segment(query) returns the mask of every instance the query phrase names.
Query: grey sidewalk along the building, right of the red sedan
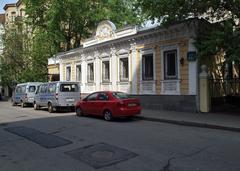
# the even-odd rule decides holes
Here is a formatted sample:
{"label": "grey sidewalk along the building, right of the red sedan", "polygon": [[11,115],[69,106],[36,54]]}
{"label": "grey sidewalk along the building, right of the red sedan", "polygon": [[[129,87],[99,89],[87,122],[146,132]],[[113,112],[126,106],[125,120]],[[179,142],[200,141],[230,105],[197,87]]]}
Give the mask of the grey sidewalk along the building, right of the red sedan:
{"label": "grey sidewalk along the building, right of the red sedan", "polygon": [[232,115],[227,113],[187,113],[143,109],[139,117],[149,121],[240,132],[240,113],[239,115]]}

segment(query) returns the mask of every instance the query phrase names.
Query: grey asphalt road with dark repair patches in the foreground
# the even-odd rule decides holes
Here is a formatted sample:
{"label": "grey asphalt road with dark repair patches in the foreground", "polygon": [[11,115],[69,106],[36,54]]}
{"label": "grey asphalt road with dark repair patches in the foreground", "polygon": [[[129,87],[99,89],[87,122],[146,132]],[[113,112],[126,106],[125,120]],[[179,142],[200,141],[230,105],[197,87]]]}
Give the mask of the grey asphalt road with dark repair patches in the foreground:
{"label": "grey asphalt road with dark repair patches in the foreground", "polygon": [[237,171],[240,134],[0,102],[0,171]]}

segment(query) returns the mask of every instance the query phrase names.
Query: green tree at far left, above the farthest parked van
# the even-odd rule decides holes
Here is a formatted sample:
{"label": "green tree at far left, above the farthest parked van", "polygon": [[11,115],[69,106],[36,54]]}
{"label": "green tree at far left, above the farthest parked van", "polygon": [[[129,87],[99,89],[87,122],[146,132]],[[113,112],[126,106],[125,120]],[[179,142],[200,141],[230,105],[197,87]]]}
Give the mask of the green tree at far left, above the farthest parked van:
{"label": "green tree at far left, above the farthest parked van", "polygon": [[28,34],[23,30],[21,18],[16,18],[11,23],[11,27],[6,28],[0,70],[4,86],[11,87],[15,81],[25,81],[24,71],[31,65],[27,37]]}

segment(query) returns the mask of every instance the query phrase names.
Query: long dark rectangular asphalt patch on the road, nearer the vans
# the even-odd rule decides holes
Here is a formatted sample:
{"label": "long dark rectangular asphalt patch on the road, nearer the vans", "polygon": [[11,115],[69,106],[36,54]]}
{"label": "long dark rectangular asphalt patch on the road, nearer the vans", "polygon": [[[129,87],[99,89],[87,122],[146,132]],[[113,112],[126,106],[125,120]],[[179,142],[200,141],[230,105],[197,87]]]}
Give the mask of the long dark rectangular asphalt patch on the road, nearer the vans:
{"label": "long dark rectangular asphalt patch on the road, nearer the vans", "polygon": [[5,128],[5,130],[13,134],[16,134],[18,136],[24,137],[45,148],[55,148],[55,147],[64,146],[72,143],[71,141],[66,140],[64,138],[61,138],[55,135],[46,134],[44,132],[40,132],[38,130],[24,127],[24,126]]}

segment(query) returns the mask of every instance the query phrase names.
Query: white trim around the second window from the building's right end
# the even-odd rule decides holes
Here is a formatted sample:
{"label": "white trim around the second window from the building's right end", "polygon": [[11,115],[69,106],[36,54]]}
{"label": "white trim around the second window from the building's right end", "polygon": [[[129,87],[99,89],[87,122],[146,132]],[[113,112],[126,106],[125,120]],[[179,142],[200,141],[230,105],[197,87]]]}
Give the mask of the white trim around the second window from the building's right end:
{"label": "white trim around the second window from the building's right end", "polygon": [[[148,55],[148,54],[153,54],[153,80],[143,80],[143,78],[142,78],[142,69],[143,69],[143,66],[142,66],[142,59],[143,59],[143,55]],[[155,52],[155,50],[154,49],[146,49],[146,50],[141,50],[140,51],[140,61],[141,61],[141,63],[140,63],[140,80],[141,81],[149,81],[149,82],[152,82],[152,81],[155,81],[156,80],[156,64],[155,64],[155,61],[156,61],[156,52]]]}

